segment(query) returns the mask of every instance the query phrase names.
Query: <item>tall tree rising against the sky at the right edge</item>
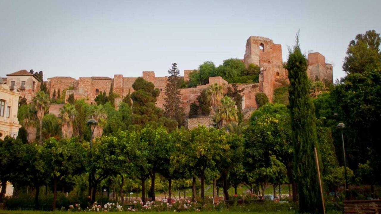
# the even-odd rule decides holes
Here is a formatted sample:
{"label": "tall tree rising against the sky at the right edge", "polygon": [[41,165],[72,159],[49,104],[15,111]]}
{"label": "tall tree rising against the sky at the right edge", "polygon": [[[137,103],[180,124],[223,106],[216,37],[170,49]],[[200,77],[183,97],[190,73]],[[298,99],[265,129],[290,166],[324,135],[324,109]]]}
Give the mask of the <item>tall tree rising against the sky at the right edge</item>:
{"label": "tall tree rising against the sky at the right edge", "polygon": [[368,65],[375,65],[381,60],[379,45],[380,34],[368,30],[365,34],[357,34],[349,43],[347,56],[344,57],[343,70],[347,73],[362,73]]}

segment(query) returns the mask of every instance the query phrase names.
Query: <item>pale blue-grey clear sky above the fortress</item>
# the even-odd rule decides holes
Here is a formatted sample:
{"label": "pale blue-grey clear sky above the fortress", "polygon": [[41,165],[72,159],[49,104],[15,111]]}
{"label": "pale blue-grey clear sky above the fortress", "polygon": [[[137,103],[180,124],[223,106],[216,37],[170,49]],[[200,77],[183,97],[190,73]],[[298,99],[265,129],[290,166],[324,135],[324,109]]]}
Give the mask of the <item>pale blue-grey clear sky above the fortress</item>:
{"label": "pale blue-grey clear sky above the fortress", "polygon": [[319,52],[343,77],[355,35],[381,32],[380,0],[0,0],[0,76],[42,70],[54,76],[181,74],[205,61],[243,59],[246,40],[263,36]]}

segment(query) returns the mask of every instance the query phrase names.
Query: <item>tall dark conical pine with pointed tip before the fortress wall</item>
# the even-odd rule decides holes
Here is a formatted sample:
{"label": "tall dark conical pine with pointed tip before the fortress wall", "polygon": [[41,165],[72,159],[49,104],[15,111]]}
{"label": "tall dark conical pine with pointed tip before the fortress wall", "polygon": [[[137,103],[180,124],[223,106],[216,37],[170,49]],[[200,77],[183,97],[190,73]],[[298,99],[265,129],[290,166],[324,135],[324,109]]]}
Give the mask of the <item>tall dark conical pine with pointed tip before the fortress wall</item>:
{"label": "tall dark conical pine with pointed tip before the fortress wall", "polygon": [[172,64],[172,68],[168,70],[169,77],[165,86],[165,116],[174,119],[178,122],[179,126],[185,126],[185,112],[184,107],[181,107],[181,94],[180,94],[180,70],[176,63]]}

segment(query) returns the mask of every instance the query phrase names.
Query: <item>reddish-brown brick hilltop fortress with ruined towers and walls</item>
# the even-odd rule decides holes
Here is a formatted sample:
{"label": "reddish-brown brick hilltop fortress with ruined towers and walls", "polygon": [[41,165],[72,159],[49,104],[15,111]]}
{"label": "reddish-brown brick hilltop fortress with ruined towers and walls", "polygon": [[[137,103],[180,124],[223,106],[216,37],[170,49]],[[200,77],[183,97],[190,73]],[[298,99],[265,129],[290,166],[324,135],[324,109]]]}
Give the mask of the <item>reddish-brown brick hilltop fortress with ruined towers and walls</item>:
{"label": "reddish-brown brick hilltop fortress with ruined towers and walls", "polygon": [[[242,60],[246,66],[250,63],[259,65],[261,73],[259,75],[259,83],[239,84],[239,89],[244,89],[242,92],[243,102],[242,109],[255,109],[257,104],[255,102],[255,95],[258,92],[264,92],[269,100],[272,101],[274,89],[281,86],[282,83],[287,82],[287,70],[283,68],[282,58],[282,45],[275,44],[271,39],[265,37],[251,36],[246,42],[246,51]],[[194,70],[184,70],[184,80],[189,80],[189,74]],[[308,76],[315,80],[326,79],[330,82],[333,81],[332,65],[325,63],[325,57],[318,53],[308,54]],[[156,88],[163,92],[166,86],[167,77],[156,77],[153,71],[143,71],[142,77],[152,82]],[[94,99],[98,96],[99,92],[109,92],[112,85],[114,92],[120,95],[115,103],[122,100],[128,92],[134,91],[132,84],[136,77],[123,77],[122,74],[115,74],[113,78],[110,77],[80,77],[78,80],[72,77],[51,77],[48,78],[47,87],[52,96],[54,89],[74,88],[66,91],[66,96],[74,93],[75,99],[85,99],[86,102],[94,103]],[[35,91],[39,89],[38,80],[33,74],[29,72],[14,72],[3,78],[3,81],[10,85],[11,88],[18,88],[21,96],[26,96],[28,102],[31,101]],[[196,88],[182,88],[182,105],[185,107],[186,114],[189,111],[189,106],[192,102],[197,102],[197,96],[201,91],[207,88],[210,84],[218,83],[221,85],[228,84],[226,80],[221,77],[210,77],[207,85],[199,85]],[[157,99],[157,106],[163,108],[164,93],[160,93]]]}

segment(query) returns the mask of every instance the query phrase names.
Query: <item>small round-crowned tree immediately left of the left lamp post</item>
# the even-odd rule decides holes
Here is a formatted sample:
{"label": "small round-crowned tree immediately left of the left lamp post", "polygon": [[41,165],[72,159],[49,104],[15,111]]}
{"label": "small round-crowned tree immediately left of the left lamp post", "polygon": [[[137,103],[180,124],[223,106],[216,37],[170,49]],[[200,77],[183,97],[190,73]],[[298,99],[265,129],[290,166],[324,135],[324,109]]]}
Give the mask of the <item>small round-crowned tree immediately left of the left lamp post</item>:
{"label": "small round-crowned tree immediately left of the left lamp post", "polygon": [[46,166],[53,180],[53,211],[56,209],[57,183],[69,176],[80,174],[85,166],[85,149],[77,139],[57,141],[50,138],[43,146]]}

